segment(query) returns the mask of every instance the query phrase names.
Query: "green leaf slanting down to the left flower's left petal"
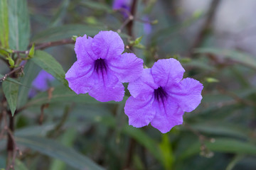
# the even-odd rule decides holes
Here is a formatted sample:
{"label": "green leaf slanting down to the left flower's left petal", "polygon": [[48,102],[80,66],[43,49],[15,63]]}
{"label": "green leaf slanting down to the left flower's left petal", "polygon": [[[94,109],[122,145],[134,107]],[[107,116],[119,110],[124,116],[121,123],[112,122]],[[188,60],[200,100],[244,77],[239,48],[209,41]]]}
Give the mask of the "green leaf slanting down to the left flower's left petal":
{"label": "green leaf slanting down to the left flower's left petal", "polygon": [[68,81],[65,79],[63,67],[50,54],[41,50],[36,50],[36,53],[31,60],[39,67],[46,70],[46,72],[52,74],[53,77],[58,79],[65,86],[68,86]]}

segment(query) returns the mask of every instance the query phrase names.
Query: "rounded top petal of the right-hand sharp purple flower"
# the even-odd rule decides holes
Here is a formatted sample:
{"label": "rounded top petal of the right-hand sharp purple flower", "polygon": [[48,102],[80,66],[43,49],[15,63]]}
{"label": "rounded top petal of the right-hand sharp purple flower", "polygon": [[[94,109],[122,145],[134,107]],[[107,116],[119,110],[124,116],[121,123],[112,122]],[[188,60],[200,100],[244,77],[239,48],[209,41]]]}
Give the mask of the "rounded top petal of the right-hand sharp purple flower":
{"label": "rounded top petal of the right-hand sharp purple flower", "polygon": [[173,58],[158,60],[151,68],[154,81],[159,86],[178,83],[183,78],[184,72],[185,69],[183,69],[181,63]]}

